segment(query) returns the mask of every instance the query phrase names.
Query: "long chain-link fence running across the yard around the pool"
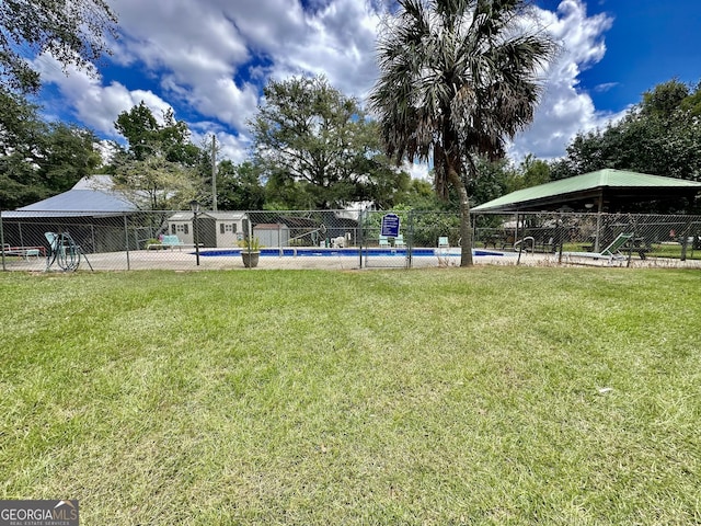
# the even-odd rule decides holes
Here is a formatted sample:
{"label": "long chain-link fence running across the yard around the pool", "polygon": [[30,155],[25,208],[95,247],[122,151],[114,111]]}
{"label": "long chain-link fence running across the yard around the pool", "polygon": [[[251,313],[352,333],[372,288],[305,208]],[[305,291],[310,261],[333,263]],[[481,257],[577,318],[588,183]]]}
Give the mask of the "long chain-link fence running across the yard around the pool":
{"label": "long chain-link fence running across the yard around the pool", "polygon": [[[458,214],[391,214],[387,236],[388,213],[368,210],[3,211],[0,255],[5,271],[233,270],[248,252],[261,268],[460,264]],[[478,264],[701,263],[701,216],[475,214],[472,236]]]}

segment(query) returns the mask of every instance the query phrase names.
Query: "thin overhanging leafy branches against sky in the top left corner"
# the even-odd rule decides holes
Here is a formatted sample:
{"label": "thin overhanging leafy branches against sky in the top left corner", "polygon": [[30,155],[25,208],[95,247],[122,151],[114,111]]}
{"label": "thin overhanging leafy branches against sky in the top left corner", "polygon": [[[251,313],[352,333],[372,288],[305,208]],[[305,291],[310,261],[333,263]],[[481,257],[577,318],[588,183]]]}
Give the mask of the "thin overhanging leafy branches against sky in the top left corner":
{"label": "thin overhanging leafy branches against sky in the top left corner", "polygon": [[64,66],[84,67],[116,37],[117,18],[105,0],[7,0],[0,2],[0,85],[37,91],[39,73],[31,57],[49,53]]}

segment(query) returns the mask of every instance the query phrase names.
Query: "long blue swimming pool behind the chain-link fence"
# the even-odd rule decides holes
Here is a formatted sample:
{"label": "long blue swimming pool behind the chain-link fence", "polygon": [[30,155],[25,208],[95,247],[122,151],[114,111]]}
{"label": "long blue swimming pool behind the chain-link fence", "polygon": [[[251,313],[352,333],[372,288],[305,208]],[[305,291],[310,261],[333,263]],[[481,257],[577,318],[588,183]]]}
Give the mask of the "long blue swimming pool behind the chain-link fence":
{"label": "long blue swimming pool behind the chain-link fence", "polygon": [[[366,248],[363,249],[363,256],[376,256],[376,258],[392,258],[400,256],[406,258],[407,249],[375,249],[375,248]],[[194,253],[194,252],[193,252]],[[241,249],[215,249],[215,250],[200,250],[199,255],[202,258],[208,256],[231,256],[231,255],[240,255]],[[460,249],[453,248],[446,250],[439,249],[412,249],[411,251],[412,258],[426,258],[426,256],[460,256]],[[503,252],[494,252],[490,250],[472,250],[472,255],[474,256],[502,256]],[[290,248],[285,247],[281,249],[261,249],[261,256],[275,256],[275,258],[359,258],[360,249],[358,248],[348,248],[348,249],[325,249],[325,248],[317,248],[317,247],[297,247]]]}

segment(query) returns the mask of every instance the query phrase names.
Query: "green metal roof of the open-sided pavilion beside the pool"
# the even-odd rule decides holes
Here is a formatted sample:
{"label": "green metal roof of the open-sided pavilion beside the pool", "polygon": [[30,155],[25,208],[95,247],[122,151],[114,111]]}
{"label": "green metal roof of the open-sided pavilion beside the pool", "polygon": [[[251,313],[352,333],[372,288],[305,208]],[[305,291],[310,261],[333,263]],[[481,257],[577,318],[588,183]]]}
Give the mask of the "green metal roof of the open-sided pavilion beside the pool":
{"label": "green metal roof of the open-sided pavilion beside the pool", "polygon": [[540,211],[563,206],[620,211],[630,203],[693,197],[701,183],[625,170],[605,169],[518,190],[472,208],[473,211]]}

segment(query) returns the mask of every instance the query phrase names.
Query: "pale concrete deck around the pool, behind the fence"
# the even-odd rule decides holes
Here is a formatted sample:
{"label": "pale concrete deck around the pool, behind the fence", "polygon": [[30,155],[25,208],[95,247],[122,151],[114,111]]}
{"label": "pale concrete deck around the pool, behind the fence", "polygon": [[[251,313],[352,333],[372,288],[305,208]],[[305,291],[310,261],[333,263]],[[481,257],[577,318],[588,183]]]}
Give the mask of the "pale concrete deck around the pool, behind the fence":
{"label": "pale concrete deck around the pool, behind the fence", "polygon": [[[203,251],[205,252],[205,251]],[[520,259],[518,253],[489,251],[498,255],[478,255],[474,258],[476,265],[527,265],[527,266],[630,266],[634,268],[701,268],[701,260],[680,261],[668,258],[647,258],[641,260],[632,258],[630,265],[628,260],[577,259],[564,256],[559,263],[559,254],[532,254],[522,253]],[[88,260],[95,271],[140,271],[140,270],[172,270],[172,271],[206,271],[206,270],[246,270],[243,266],[241,256],[235,255],[202,255],[199,266],[196,265],[195,253],[186,251],[153,251],[139,250],[130,252],[107,252],[100,254],[88,254]],[[418,255],[412,259],[412,268],[447,267],[459,266],[460,255],[455,249],[448,255]],[[277,256],[262,255],[258,266],[255,270],[336,270],[350,271],[359,268],[405,268],[406,259],[402,255],[382,255],[370,252],[368,258],[364,258],[360,264],[359,256],[356,255],[298,255]],[[5,259],[5,270],[41,272],[46,268],[45,259]],[[51,271],[58,270],[56,266]],[[89,271],[90,266],[82,261],[80,271]]]}

